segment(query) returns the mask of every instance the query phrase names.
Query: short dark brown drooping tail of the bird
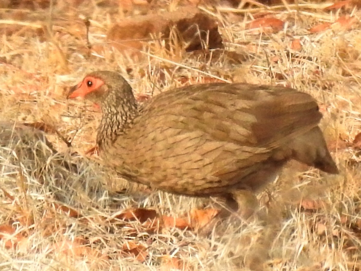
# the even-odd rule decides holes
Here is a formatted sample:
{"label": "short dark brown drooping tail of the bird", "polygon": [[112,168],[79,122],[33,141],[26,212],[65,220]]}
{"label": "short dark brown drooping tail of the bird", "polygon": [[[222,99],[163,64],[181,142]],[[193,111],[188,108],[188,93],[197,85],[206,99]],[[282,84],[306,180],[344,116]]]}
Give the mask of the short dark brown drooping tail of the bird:
{"label": "short dark brown drooping tail of the bird", "polygon": [[289,147],[292,150],[293,159],[327,173],[339,173],[337,165],[327,149],[323,133],[318,126],[293,139]]}

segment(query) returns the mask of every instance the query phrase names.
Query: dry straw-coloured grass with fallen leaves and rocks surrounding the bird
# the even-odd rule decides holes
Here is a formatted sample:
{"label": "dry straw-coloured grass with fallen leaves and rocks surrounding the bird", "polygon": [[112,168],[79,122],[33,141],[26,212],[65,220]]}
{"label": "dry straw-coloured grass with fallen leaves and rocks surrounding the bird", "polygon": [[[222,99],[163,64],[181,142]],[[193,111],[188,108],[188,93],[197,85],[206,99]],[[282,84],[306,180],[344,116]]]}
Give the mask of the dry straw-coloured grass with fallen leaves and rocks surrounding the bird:
{"label": "dry straw-coloured grass with fallen leaves and rocks surrounding the bird", "polygon": [[[357,0],[1,1],[0,270],[361,270],[360,16]],[[310,93],[341,174],[291,163],[255,215],[202,235],[214,200],[101,165],[99,109],[65,98],[100,69],[140,101],[219,80]]]}

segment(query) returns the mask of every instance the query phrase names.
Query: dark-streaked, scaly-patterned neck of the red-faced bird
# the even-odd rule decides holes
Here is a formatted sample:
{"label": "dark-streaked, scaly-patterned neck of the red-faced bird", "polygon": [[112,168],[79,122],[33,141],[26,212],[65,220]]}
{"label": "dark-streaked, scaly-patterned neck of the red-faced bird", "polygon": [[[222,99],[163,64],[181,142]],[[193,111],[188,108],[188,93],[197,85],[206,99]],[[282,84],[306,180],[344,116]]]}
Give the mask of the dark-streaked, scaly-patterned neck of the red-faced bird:
{"label": "dark-streaked, scaly-patterned neck of the red-faced bird", "polygon": [[134,118],[139,114],[138,107],[131,89],[126,97],[118,97],[116,91],[109,92],[101,103],[103,117],[96,138],[100,148],[113,143],[118,136],[127,133]]}

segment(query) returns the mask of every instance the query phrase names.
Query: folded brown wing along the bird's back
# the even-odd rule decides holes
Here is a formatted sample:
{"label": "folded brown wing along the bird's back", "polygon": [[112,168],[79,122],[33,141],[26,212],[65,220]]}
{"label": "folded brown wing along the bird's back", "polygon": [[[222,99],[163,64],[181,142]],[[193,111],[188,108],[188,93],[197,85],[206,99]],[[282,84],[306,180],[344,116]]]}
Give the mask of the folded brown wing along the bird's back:
{"label": "folded brown wing along the bird's back", "polygon": [[[187,95],[185,95],[187,94]],[[202,84],[167,91],[144,107],[146,125],[200,131],[215,141],[274,148],[317,126],[309,94],[285,87]]]}

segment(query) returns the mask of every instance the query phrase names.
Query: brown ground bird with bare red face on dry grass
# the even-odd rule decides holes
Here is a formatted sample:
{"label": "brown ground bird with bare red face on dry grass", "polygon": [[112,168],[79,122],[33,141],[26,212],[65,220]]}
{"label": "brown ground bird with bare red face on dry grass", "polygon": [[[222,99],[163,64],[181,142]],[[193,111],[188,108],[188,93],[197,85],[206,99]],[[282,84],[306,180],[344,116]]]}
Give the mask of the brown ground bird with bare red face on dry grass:
{"label": "brown ground bird with bare red face on dry grass", "polygon": [[297,160],[338,174],[309,94],[284,86],[212,82],[164,91],[139,104],[116,71],[95,71],[70,88],[98,104],[97,146],[128,181],[191,197],[257,192]]}

